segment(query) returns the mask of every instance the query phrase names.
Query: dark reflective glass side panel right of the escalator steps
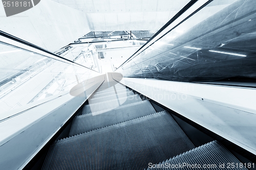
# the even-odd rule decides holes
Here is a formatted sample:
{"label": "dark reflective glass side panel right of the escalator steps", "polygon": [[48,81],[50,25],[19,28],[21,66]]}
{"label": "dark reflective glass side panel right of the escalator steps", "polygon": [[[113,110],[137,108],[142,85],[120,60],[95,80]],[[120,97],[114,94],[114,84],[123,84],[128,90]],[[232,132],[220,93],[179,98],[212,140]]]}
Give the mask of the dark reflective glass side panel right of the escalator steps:
{"label": "dark reflective glass side panel right of the escalator steps", "polygon": [[255,82],[255,6],[253,0],[212,1],[117,71],[182,82]]}

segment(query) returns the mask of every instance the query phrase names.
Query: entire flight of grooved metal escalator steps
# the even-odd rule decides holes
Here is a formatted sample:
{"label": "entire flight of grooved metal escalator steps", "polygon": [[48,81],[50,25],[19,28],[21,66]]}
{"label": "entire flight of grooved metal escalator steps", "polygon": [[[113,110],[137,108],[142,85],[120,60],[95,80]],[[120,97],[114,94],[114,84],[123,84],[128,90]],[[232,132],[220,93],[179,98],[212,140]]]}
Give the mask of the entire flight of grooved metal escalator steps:
{"label": "entire flight of grooved metal escalator steps", "polygon": [[[51,145],[42,170],[172,169],[179,164],[184,166],[176,169],[195,164],[227,169],[220,163],[241,163],[218,141],[195,147],[167,111],[157,112],[148,100],[109,79],[73,119],[69,137]],[[232,169],[246,169],[241,166]]]}

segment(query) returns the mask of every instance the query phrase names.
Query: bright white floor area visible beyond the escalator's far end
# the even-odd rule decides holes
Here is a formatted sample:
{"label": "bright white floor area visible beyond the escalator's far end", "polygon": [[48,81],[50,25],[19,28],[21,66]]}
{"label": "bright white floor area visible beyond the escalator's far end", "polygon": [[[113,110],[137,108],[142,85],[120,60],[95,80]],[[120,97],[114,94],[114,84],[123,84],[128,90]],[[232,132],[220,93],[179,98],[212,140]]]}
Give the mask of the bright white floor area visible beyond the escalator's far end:
{"label": "bright white floor area visible beyond the escalator's far end", "polygon": [[[99,39],[100,42],[97,42]],[[106,71],[104,69],[105,67],[111,68],[113,65],[119,67],[141,45],[146,43],[146,40],[142,39],[87,38],[86,40],[90,40],[91,42],[83,42],[83,39],[81,39],[81,42],[72,43],[68,47],[56,52],[56,54],[95,71],[102,72],[103,70],[102,73],[104,73]],[[127,48],[130,49],[129,53],[127,53]],[[120,51],[120,53],[112,53],[113,51]],[[118,60],[118,64],[115,61],[113,63],[111,63],[112,61],[104,63],[104,61],[110,59]],[[115,69],[107,70],[112,72]]]}

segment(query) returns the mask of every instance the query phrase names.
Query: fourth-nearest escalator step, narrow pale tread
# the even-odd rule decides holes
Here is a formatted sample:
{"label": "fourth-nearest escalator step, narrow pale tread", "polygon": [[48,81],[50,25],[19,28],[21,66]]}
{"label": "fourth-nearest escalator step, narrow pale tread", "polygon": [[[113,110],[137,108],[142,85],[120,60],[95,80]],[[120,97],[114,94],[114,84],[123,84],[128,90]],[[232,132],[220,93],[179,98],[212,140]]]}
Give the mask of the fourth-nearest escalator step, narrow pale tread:
{"label": "fourth-nearest escalator step, narrow pale tread", "polygon": [[98,102],[83,107],[82,114],[87,114],[91,112],[96,112],[100,110],[105,110],[109,108],[116,108],[121,105],[126,105],[130,103],[140,102],[141,98],[138,94],[125,96],[123,98],[116,98],[104,102]]}

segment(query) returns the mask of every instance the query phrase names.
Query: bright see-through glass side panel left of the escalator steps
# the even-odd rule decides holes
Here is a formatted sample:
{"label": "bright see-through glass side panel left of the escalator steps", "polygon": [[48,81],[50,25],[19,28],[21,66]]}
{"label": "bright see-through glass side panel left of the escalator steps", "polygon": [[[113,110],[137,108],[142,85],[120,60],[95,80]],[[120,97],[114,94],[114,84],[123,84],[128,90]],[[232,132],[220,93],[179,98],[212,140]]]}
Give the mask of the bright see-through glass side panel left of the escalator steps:
{"label": "bright see-through glass side panel left of the escalator steps", "polygon": [[[99,72],[0,43],[0,114],[70,93]],[[84,89],[86,90],[86,89]],[[85,98],[87,96],[85,95]]]}

